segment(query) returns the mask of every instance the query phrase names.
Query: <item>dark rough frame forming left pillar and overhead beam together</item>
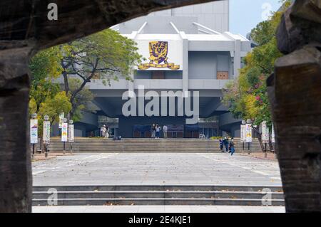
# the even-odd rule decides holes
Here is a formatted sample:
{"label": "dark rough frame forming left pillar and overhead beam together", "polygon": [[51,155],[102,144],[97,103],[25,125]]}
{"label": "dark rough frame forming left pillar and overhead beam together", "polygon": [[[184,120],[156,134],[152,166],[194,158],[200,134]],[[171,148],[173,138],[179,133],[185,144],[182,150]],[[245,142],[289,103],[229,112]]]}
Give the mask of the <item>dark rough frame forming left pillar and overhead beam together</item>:
{"label": "dark rough frame forming left pillar and overhead beam together", "polygon": [[[29,58],[151,11],[209,0],[0,1],[0,212],[31,211]],[[58,20],[48,20],[48,4]]]}

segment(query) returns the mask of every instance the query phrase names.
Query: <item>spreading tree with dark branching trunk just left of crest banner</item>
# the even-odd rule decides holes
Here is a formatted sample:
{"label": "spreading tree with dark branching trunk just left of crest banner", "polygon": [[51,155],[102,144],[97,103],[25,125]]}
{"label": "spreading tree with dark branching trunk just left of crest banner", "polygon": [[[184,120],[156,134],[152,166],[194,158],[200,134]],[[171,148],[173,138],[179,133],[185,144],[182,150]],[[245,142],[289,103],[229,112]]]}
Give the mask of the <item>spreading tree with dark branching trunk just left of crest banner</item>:
{"label": "spreading tree with dark branching trunk just left of crest banner", "polygon": [[[76,115],[76,119],[83,107],[77,104],[81,91],[91,79],[103,79],[104,84],[118,80],[118,76],[132,80],[133,67],[141,62],[136,43],[111,29],[62,45],[60,50],[64,90],[72,105],[70,117]],[[71,88],[69,80],[75,76],[80,83]]]}

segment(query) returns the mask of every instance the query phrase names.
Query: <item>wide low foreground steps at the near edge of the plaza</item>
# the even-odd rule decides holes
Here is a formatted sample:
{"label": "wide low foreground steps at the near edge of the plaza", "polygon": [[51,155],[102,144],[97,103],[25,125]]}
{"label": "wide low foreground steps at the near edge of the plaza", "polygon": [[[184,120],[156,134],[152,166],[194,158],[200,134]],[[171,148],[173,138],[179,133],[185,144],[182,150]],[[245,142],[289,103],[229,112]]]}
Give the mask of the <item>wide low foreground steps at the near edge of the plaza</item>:
{"label": "wide low foreground steps at the near edge of the plaza", "polygon": [[[49,189],[56,189],[56,197]],[[34,186],[33,206],[85,205],[233,205],[263,206],[269,188],[270,205],[284,206],[281,186],[105,185]],[[50,197],[49,197],[50,196]],[[50,199],[49,199],[50,198]]]}

